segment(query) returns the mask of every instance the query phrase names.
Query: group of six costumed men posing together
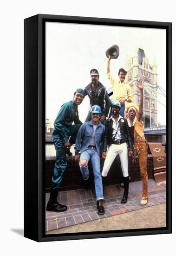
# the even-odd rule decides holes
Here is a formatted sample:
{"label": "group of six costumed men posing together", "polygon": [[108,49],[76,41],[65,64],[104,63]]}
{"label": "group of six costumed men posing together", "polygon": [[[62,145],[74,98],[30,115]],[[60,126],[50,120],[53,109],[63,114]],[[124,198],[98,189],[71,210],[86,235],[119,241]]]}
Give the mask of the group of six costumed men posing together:
{"label": "group of six costumed men posing together", "polygon": [[[74,92],[72,101],[66,102],[54,121],[53,141],[56,149],[56,163],[52,176],[50,199],[46,210],[61,212],[67,209],[66,205],[58,202],[58,190],[67,166],[66,155],[70,154],[70,147],[75,144],[75,161],[79,163],[84,180],[89,178],[88,162],[94,174],[95,192],[97,197],[98,214],[104,214],[104,185],[111,164],[119,155],[123,179],[124,195],[121,203],[126,203],[129,192],[128,157],[138,156],[142,177],[142,200],[148,202],[148,175],[147,175],[147,143],[143,134],[143,81],[140,80],[139,107],[132,102],[130,86],[125,84],[127,72],[120,68],[119,81],[114,80],[110,73],[111,57],[107,59],[107,76],[113,87],[112,101],[106,88],[99,81],[97,69],[91,69],[91,83],[85,89],[78,88]],[[90,99],[89,111],[85,123],[79,120],[78,105],[84,97]],[[125,101],[129,102],[126,104]],[[111,109],[110,109],[111,108]],[[109,110],[111,115],[108,119]],[[75,124],[72,125],[72,122]],[[108,151],[107,151],[108,148]],[[100,157],[105,159],[102,172],[100,171]]]}

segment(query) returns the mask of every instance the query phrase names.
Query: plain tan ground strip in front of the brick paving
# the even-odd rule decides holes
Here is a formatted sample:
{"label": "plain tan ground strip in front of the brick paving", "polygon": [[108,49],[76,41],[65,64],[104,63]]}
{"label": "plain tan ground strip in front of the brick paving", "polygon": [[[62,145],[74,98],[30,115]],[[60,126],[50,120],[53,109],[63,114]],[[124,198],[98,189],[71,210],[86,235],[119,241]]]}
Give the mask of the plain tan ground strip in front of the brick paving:
{"label": "plain tan ground strip in front of the brick paving", "polygon": [[153,229],[163,227],[166,227],[166,203],[106,217],[101,220],[98,219],[70,227],[54,229],[46,232],[46,234],[68,234],[125,229]]}

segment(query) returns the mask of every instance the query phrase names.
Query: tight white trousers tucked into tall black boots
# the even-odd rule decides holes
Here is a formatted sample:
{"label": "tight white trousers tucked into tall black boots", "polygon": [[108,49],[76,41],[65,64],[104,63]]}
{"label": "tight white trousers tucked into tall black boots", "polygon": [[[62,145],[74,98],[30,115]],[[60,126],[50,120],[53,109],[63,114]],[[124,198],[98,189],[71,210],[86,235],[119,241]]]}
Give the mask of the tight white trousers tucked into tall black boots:
{"label": "tight white trousers tucked into tall black boots", "polygon": [[120,145],[111,144],[108,149],[106,159],[104,161],[104,167],[102,171],[102,176],[106,177],[108,175],[111,164],[114,161],[115,157],[119,155],[123,176],[127,177],[128,175],[128,148],[127,143],[124,142]]}

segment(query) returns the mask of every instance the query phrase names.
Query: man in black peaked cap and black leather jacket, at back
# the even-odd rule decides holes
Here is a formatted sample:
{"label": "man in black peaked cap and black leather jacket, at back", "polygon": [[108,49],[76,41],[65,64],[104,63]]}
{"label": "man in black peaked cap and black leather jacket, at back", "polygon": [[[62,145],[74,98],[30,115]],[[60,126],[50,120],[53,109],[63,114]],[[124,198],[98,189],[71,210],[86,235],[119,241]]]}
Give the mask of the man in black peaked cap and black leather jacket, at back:
{"label": "man in black peaked cap and black leather jacket, at back", "polygon": [[[91,83],[88,84],[84,89],[85,96],[88,95],[90,99],[90,107],[94,105],[100,106],[102,109],[102,116],[100,121],[103,122],[106,116],[108,116],[109,109],[111,107],[111,100],[106,91],[104,85],[99,82],[98,70],[93,68],[91,69]],[[91,121],[91,113],[89,112],[85,122]]]}

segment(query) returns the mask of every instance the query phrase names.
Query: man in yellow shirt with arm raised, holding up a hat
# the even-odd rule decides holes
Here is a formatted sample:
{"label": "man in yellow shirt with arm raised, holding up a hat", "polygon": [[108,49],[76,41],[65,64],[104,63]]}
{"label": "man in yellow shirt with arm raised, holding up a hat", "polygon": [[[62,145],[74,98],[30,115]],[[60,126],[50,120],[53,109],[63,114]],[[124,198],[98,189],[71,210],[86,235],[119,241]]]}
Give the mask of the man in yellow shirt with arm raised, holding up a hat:
{"label": "man in yellow shirt with arm raised, holding up a hat", "polygon": [[125,101],[132,102],[131,88],[124,82],[127,72],[123,68],[120,68],[118,71],[119,81],[116,81],[112,77],[110,73],[110,61],[111,57],[109,55],[109,58],[107,59],[107,76],[110,79],[113,88],[112,101],[120,101],[121,109],[119,114],[124,117]]}

